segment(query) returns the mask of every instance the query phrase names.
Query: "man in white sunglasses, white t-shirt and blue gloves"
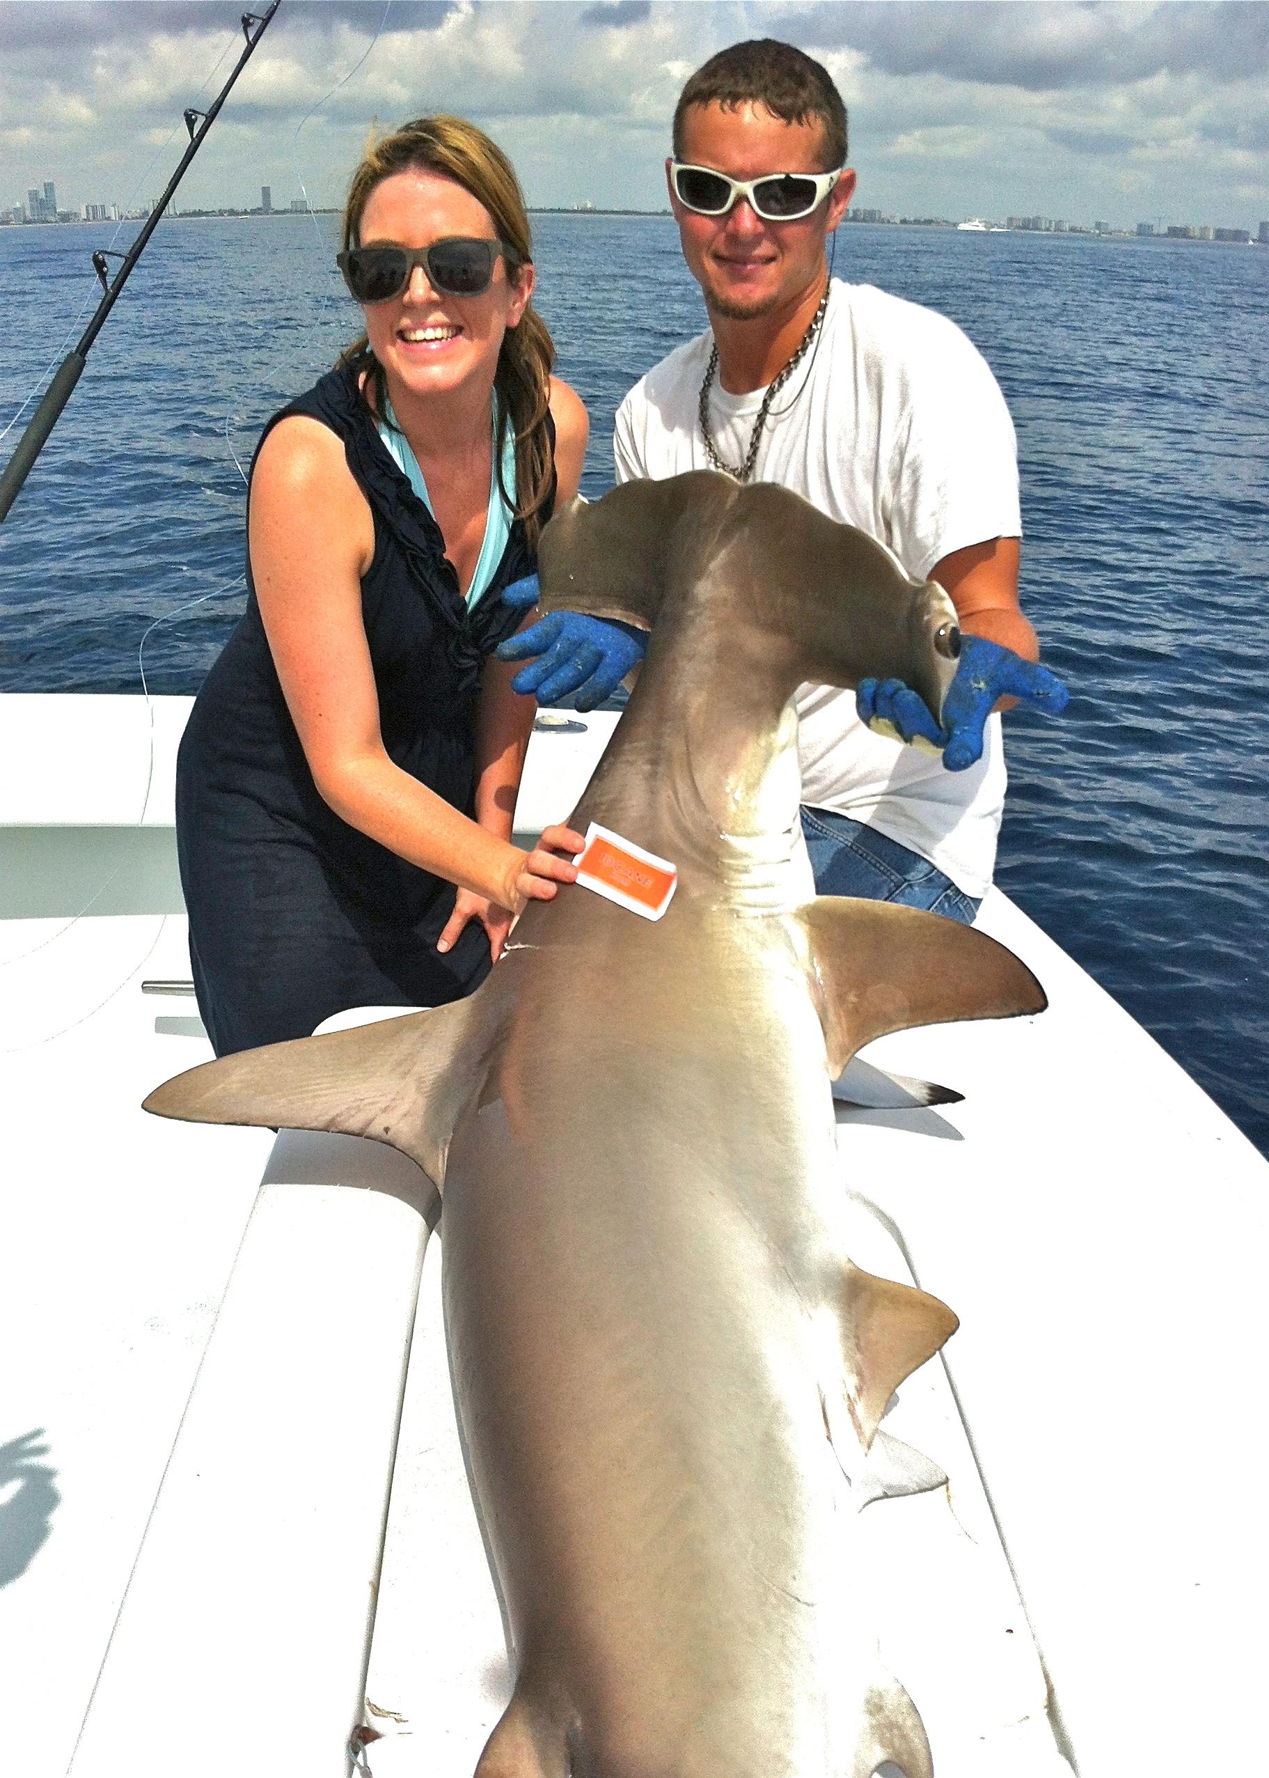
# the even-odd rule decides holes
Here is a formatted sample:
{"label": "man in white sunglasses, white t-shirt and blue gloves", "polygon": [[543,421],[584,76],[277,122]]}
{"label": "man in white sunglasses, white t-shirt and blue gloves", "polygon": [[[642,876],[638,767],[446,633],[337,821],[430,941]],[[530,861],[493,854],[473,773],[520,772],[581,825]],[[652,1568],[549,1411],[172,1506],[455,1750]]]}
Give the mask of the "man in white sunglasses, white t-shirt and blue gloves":
{"label": "man in white sunglasses, white t-shirt and blue gloves", "polygon": [[[970,921],[992,880],[1004,800],[992,711],[1013,702],[1010,693],[1065,704],[1059,683],[1034,665],[1036,635],[1018,606],[1018,473],[1004,398],[953,322],[830,281],[826,244],[855,174],[846,108],[819,62],[771,39],[714,55],[679,98],[666,178],[711,331],[622,402],[619,480],[714,468],[780,482],[947,589],[963,653],[944,731],[898,681],[862,685],[858,702],[802,686],[803,832],[821,894]],[[572,622],[595,624],[562,613],[505,644],[523,658],[556,638],[517,690],[558,697],[610,645],[610,674],[627,670],[636,644],[615,626],[583,633]],[[585,702],[617,683],[610,674],[599,667]]]}

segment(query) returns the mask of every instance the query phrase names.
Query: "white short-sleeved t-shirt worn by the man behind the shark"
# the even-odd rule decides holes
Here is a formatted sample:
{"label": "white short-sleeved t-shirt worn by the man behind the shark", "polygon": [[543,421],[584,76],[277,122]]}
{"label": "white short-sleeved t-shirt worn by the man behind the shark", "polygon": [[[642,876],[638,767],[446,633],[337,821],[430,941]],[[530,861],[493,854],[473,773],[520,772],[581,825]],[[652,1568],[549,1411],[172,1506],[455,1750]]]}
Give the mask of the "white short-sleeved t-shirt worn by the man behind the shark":
{"label": "white short-sleeved t-shirt worn by the man behind the shark", "polygon": [[[711,334],[647,373],[617,411],[617,480],[707,469],[700,384]],[[723,462],[748,452],[764,389],[709,398]],[[944,315],[871,284],[834,279],[823,329],[777,393],[754,480],[794,489],[828,517],[855,525],[924,580],[967,544],[1020,537],[1013,421],[986,361]],[[965,894],[992,882],[1004,805],[1001,718],[967,772],[873,734],[855,693],[798,690],[802,800],[867,821],[938,866]]]}

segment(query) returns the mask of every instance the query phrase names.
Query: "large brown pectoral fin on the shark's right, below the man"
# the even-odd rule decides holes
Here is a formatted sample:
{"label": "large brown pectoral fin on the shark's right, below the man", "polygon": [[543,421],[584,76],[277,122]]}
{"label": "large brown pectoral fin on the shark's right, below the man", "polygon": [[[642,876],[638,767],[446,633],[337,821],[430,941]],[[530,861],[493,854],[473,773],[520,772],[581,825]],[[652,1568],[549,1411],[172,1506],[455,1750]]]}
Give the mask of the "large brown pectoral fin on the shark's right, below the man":
{"label": "large brown pectoral fin on the shark's right, below the man", "polygon": [[1043,1012],[1045,990],[995,939],[942,914],[818,896],[802,909],[828,1069],[887,1031]]}

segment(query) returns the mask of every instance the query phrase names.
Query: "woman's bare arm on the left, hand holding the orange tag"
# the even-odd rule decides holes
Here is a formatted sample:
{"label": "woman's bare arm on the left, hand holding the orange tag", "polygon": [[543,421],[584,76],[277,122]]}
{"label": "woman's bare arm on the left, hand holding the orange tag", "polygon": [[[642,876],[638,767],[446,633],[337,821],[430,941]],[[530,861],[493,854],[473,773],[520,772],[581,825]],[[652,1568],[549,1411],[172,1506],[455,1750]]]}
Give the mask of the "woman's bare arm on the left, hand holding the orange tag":
{"label": "woman's bare arm on the left, hand holding the orange tag", "polygon": [[569,861],[524,853],[387,757],[361,619],[373,519],[339,439],[318,421],[284,420],[261,446],[249,548],[286,708],[334,813],[411,864],[512,910],[572,882]]}

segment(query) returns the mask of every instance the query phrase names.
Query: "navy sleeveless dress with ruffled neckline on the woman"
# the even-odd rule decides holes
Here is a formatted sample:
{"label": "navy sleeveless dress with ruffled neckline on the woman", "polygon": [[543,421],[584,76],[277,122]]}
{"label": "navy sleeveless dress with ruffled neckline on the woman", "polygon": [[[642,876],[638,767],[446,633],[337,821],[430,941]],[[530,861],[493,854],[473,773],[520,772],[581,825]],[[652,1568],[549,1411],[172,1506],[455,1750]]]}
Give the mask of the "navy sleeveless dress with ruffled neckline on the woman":
{"label": "navy sleeveless dress with ruffled neckline on the woman", "polygon": [[[263,437],[291,414],[343,439],[373,512],[361,606],[384,747],[471,814],[482,665],[521,619],[499,592],[535,567],[524,526],[512,525],[489,590],[469,612],[441,528],[379,437],[355,372],[322,377]],[[277,681],[251,560],[247,610],[181,740],[176,843],[194,987],[219,1056],[307,1037],[347,1006],[439,1006],[489,973],[489,939],[476,923],[451,951],[435,949],[453,884],[348,827],[318,795]]]}

